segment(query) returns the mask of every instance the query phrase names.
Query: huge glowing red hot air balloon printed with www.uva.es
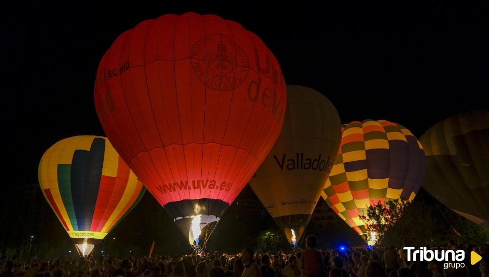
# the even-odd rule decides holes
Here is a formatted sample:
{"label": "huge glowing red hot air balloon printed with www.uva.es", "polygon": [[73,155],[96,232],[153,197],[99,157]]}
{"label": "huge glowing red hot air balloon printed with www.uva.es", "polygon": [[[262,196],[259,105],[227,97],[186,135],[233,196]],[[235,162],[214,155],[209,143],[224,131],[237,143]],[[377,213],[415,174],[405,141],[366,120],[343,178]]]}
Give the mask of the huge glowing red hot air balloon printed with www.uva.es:
{"label": "huge glowing red hot air balloon printed with www.uva.es", "polygon": [[187,13],[121,34],[100,61],[94,100],[114,148],[198,246],[278,137],[284,84],[256,35]]}

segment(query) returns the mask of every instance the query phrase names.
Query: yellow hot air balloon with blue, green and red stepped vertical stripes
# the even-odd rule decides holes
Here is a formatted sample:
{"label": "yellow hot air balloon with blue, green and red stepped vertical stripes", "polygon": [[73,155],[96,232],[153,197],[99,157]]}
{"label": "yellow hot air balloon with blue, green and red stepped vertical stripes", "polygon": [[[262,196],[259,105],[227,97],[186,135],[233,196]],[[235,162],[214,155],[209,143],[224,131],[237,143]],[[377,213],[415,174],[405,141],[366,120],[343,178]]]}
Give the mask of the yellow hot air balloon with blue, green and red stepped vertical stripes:
{"label": "yellow hot air balloon with blue, green and red stepped vertical stripes", "polygon": [[146,191],[103,136],[57,142],[42,156],[38,174],[44,197],[84,257]]}

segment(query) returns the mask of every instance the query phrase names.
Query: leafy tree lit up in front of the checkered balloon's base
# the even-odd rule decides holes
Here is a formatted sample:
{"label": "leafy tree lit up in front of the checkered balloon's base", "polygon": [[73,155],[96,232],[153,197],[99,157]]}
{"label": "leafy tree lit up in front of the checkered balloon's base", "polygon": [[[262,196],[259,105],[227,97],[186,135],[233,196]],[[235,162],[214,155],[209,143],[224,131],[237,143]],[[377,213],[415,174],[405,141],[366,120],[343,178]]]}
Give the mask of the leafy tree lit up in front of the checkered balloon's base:
{"label": "leafy tree lit up in front of the checkered balloon's base", "polygon": [[375,245],[382,243],[387,230],[401,217],[408,205],[409,202],[399,199],[387,201],[385,204],[379,201],[376,205],[369,206],[367,215],[359,216],[365,223],[368,241],[373,241]]}

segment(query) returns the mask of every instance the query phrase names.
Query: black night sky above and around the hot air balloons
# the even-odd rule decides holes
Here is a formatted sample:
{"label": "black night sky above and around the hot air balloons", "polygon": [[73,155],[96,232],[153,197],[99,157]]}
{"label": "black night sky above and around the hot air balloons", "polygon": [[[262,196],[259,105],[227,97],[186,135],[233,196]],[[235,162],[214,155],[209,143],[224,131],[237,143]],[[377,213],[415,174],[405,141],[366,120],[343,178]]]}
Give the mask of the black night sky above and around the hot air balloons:
{"label": "black night sky above and around the hot air balloons", "polygon": [[240,23],[275,54],[287,84],[323,93],[343,123],[386,119],[419,137],[450,115],[489,107],[489,2],[392,2],[4,1],[1,200],[38,182],[52,144],[104,135],[93,102],[100,58],[120,33],[168,13]]}

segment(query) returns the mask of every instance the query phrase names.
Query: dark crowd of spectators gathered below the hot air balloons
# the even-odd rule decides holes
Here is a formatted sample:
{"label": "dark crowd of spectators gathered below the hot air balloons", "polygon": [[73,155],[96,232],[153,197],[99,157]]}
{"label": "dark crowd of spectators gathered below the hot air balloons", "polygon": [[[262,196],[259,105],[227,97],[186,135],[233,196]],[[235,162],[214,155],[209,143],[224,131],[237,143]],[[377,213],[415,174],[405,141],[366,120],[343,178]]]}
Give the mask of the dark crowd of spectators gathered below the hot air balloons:
{"label": "dark crowd of spectators gathered below the hot air balloons", "polygon": [[[424,277],[489,276],[487,245],[446,249],[464,250],[464,267],[444,266],[442,261],[409,261],[402,247],[382,249],[317,250],[318,239],[308,236],[306,250],[285,254],[255,253],[244,248],[238,254],[214,252],[185,256],[153,256],[127,259],[65,259],[22,262],[2,261],[0,277]],[[482,260],[471,265],[470,251]]]}

